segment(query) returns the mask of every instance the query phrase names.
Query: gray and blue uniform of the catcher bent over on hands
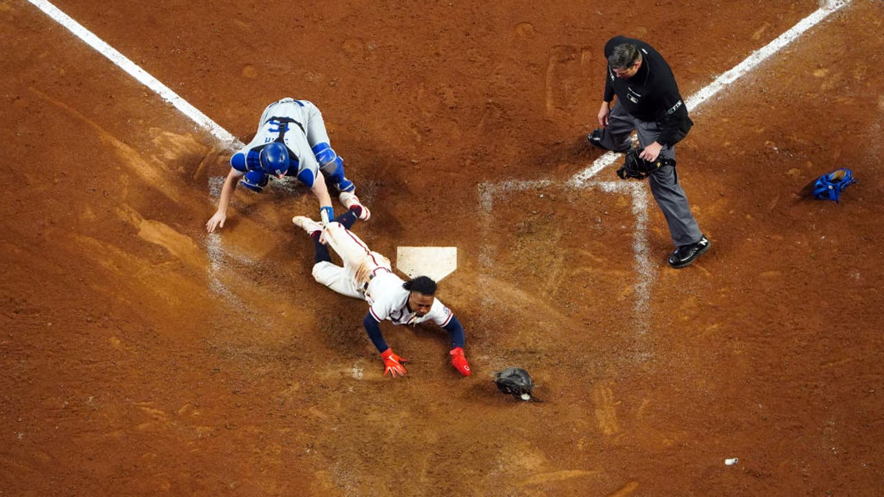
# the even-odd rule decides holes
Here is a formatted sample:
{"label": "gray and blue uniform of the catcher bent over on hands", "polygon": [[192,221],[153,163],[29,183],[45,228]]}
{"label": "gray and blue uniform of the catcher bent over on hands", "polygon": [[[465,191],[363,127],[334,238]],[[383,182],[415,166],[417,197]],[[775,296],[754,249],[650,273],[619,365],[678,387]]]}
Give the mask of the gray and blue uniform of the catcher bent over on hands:
{"label": "gray and blue uniform of the catcher bent over on hands", "polygon": [[[260,170],[261,150],[271,142],[282,142],[289,151],[286,176],[313,187],[320,171],[339,192],[352,192],[354,184],[344,176],[344,161],[329,145],[323,115],[306,100],[283,98],[264,109],[258,130],[248,145],[230,159],[233,169],[245,174]],[[266,178],[264,178],[266,180]]]}

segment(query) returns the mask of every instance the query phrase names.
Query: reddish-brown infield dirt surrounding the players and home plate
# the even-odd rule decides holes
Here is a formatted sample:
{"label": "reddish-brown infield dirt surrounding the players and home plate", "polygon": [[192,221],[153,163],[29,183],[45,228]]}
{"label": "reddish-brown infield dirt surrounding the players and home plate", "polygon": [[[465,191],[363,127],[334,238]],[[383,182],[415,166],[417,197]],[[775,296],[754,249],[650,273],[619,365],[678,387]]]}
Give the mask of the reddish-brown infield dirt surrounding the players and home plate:
{"label": "reddish-brown infield dirt surrounding the players and home plate", "polygon": [[[690,109],[713,246],[682,270],[647,185],[573,181],[604,43],[651,43],[689,97],[816,1],[54,4],[241,141],[316,103],[354,232],[457,248],[473,374],[385,323],[410,363],[384,377],[365,302],[311,277],[308,189],[239,188],[209,235],[230,144],[0,0],[0,495],[880,495],[884,3]],[[840,203],[798,195],[839,167]],[[508,366],[543,403],[497,392]]]}

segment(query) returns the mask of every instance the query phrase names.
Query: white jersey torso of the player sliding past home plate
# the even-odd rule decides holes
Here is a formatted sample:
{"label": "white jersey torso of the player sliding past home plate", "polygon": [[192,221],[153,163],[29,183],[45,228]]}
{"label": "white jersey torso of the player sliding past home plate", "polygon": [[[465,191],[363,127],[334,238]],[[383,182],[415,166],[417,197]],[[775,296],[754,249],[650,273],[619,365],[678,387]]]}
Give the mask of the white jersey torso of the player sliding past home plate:
{"label": "white jersey torso of the player sliding past home plate", "polygon": [[369,302],[371,316],[378,322],[389,319],[393,325],[418,325],[424,321],[432,321],[444,327],[451,321],[451,310],[436,298],[433,299],[430,312],[422,317],[409,310],[408,295],[411,292],[402,287],[403,283],[405,281],[392,272],[378,272],[369,282],[365,300]]}

